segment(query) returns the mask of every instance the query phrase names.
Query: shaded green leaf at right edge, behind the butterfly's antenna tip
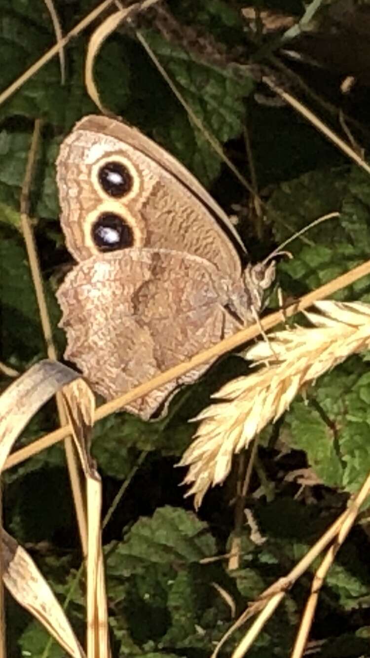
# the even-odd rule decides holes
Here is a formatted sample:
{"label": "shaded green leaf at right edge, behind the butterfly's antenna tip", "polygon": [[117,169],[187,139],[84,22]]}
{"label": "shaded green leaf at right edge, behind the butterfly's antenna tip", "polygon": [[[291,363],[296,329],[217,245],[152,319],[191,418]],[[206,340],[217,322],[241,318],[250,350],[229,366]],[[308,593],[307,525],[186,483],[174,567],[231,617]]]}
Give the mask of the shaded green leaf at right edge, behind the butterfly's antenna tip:
{"label": "shaded green leaf at right edge, behind the butterfly's antenna tip", "polygon": [[[313,220],[333,212],[288,245],[294,258],[279,265],[279,271],[294,280],[297,294],[329,282],[365,259],[370,244],[368,176],[357,167],[336,168],[304,174],[284,182],[271,196],[267,218],[277,240],[284,241]],[[307,244],[308,242],[308,244]],[[287,285],[286,278],[283,279]],[[369,277],[338,291],[335,299],[370,300]]]}

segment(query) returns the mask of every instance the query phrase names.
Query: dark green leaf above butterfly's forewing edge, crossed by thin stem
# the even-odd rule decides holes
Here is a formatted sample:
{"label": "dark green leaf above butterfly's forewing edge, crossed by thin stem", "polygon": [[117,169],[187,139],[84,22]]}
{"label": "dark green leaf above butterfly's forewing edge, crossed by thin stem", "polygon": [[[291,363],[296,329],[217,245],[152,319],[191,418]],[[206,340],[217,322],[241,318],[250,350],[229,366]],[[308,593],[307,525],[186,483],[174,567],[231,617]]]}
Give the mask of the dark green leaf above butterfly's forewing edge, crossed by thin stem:
{"label": "dark green leaf above butterfly's forewing edge, crossed by thin stem", "polygon": [[[197,61],[184,49],[165,41],[155,32],[145,32],[176,88],[206,131],[221,145],[242,133],[244,99],[253,90],[248,76],[237,76],[230,66]],[[173,100],[171,120],[157,122],[154,138],[169,148],[194,174],[209,184],[219,175],[221,160],[186,112]],[[166,116],[166,115],[165,115]]]}

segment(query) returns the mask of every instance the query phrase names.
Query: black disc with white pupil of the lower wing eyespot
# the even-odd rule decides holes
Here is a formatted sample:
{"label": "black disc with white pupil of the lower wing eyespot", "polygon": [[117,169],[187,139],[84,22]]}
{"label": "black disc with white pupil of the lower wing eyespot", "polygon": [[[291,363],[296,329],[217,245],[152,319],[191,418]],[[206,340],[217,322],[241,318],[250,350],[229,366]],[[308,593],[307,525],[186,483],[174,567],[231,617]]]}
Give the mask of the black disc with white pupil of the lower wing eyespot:
{"label": "black disc with white pupil of the lower wing eyespot", "polygon": [[92,226],[92,240],[99,251],[115,251],[134,245],[131,226],[115,213],[102,213]]}

